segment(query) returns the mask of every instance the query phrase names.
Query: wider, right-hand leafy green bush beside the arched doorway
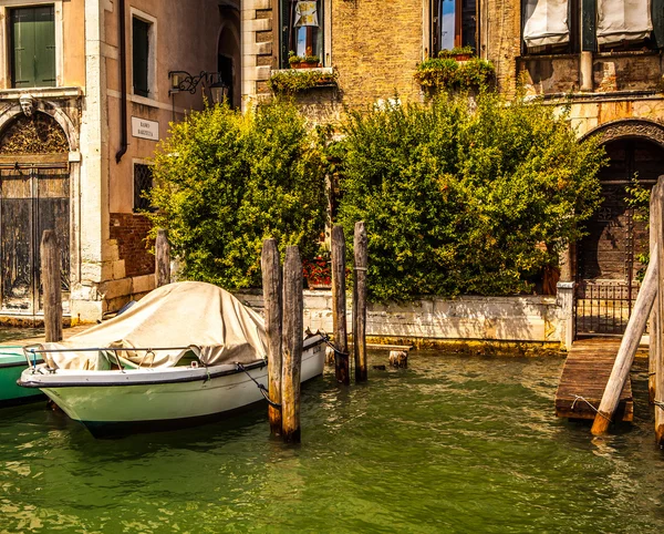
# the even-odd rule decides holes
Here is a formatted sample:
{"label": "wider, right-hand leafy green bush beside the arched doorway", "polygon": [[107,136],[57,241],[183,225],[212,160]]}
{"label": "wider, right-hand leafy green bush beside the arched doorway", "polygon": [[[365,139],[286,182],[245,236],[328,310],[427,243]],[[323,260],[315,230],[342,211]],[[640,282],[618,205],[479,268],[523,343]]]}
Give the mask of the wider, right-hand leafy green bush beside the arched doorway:
{"label": "wider, right-hand leafy green bush beside the arched doorway", "polygon": [[600,202],[598,141],[541,103],[444,96],[351,113],[344,133],[338,222],[349,240],[366,222],[374,300],[529,290]]}

